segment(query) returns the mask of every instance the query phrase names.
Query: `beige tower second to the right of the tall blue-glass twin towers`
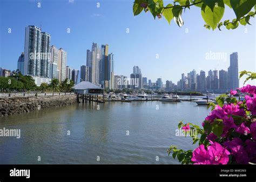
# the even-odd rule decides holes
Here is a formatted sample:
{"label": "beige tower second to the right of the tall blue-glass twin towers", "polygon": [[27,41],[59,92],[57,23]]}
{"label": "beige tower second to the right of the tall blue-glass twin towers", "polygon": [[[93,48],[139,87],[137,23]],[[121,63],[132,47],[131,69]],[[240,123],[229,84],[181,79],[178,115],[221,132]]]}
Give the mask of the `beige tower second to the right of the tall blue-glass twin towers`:
{"label": "beige tower second to the right of the tall blue-glass twin towers", "polygon": [[59,80],[63,81],[66,79],[66,55],[67,53],[64,49],[58,49],[58,70],[59,70]]}

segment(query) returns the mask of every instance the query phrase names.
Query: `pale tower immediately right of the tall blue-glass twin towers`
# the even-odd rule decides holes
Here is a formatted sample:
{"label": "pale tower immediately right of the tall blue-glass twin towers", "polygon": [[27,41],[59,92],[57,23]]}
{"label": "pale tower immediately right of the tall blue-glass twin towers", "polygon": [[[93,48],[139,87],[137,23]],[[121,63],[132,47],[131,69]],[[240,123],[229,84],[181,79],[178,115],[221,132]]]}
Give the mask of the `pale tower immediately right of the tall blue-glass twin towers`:
{"label": "pale tower immediately right of the tall blue-glass twin towers", "polygon": [[51,59],[50,59],[50,78],[58,78],[58,49],[52,45],[50,48]]}

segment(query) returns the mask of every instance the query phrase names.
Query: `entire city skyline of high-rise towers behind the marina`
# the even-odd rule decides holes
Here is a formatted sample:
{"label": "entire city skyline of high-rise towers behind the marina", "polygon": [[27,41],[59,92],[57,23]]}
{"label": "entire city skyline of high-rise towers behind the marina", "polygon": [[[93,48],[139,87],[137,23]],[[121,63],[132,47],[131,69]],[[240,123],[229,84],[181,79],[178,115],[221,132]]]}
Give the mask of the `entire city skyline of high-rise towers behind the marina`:
{"label": "entire city skyline of high-rise towers behind the marina", "polygon": [[[67,63],[67,52],[55,45],[51,45],[51,36],[42,32],[41,28],[29,25],[25,28],[24,52],[18,58],[17,69],[23,75],[32,76],[37,86],[41,83],[50,83],[56,78],[60,82],[68,78],[75,84],[87,81],[105,89],[148,89],[165,91],[199,91],[224,93],[239,87],[238,53],[230,55],[230,66],[227,70],[195,70],[181,74],[177,85],[171,80],[165,84],[161,78],[156,82],[142,76],[139,66],[133,66],[130,78],[123,75],[114,75],[114,54],[109,53],[109,45],[92,43],[91,50],[86,51],[86,65],[80,70],[71,69]],[[0,76],[8,77],[10,70],[0,68]]]}

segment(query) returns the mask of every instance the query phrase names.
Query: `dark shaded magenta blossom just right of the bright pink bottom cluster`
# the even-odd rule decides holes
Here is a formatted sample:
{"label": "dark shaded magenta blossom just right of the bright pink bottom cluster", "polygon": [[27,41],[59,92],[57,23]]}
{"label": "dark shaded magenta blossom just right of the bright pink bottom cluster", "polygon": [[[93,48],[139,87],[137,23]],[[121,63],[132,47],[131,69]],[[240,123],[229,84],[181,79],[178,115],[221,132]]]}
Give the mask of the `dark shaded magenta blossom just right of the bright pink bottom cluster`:
{"label": "dark shaded magenta blossom just right of the bright pink bottom cluster", "polygon": [[238,164],[248,164],[249,158],[242,146],[242,140],[240,138],[233,138],[232,141],[225,141],[223,145],[231,151],[231,154]]}

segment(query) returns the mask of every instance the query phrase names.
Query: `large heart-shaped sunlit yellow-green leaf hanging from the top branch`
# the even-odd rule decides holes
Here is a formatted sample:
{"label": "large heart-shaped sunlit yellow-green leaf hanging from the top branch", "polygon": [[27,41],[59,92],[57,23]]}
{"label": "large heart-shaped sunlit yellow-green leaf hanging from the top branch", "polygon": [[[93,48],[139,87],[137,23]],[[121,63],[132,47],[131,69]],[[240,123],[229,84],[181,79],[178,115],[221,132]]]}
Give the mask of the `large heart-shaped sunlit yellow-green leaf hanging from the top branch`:
{"label": "large heart-shaped sunlit yellow-green leaf hanging from the top branch", "polygon": [[201,8],[201,15],[205,21],[206,24],[210,25],[212,30],[217,28],[217,24],[220,22],[221,18],[224,15],[225,6],[223,3],[223,0],[218,1],[218,6],[214,6],[213,10],[207,6],[206,4],[203,4]]}

